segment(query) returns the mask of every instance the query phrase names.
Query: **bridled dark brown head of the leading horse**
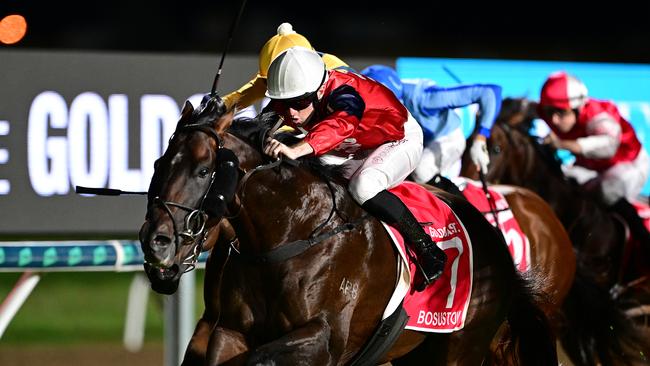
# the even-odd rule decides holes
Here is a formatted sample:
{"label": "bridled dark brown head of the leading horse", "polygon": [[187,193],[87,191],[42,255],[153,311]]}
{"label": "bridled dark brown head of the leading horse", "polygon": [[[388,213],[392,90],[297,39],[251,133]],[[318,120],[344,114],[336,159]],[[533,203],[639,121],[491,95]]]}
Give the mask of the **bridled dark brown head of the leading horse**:
{"label": "bridled dark brown head of the leading horse", "polygon": [[[233,119],[219,97],[185,103],[165,153],[154,164],[140,242],[152,288],[171,294],[195,267],[208,228],[223,217],[238,179],[237,157],[224,146]],[[219,180],[216,177],[219,176]]]}

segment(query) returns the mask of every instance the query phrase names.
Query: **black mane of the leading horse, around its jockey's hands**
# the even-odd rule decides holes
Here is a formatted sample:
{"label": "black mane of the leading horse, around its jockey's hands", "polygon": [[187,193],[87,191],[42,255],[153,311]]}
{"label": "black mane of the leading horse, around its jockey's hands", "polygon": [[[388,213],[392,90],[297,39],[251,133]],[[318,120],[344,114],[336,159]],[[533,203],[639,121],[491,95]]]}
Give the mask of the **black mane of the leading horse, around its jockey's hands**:
{"label": "black mane of the leading horse, around its jockey's hands", "polygon": [[[280,116],[275,112],[262,112],[254,118],[242,117],[233,120],[228,132],[240,140],[250,145],[255,151],[264,156],[265,140],[277,124]],[[274,138],[284,144],[293,145],[298,143],[301,138],[291,132],[279,132],[274,134]],[[269,158],[270,159],[270,158]],[[341,165],[331,165],[323,163],[318,157],[307,156],[298,160],[299,165],[311,170],[320,178],[328,182],[343,184],[343,177],[346,173],[346,167]]]}

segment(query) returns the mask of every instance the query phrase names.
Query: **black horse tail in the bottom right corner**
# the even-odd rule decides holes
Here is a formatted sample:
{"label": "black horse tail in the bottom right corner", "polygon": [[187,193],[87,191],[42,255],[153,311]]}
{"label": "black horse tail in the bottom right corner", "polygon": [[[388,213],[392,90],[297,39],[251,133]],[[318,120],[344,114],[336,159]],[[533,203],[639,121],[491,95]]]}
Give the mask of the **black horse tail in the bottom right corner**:
{"label": "black horse tail in the bottom right corner", "polygon": [[647,363],[650,340],[582,265],[564,302],[561,342],[576,365]]}

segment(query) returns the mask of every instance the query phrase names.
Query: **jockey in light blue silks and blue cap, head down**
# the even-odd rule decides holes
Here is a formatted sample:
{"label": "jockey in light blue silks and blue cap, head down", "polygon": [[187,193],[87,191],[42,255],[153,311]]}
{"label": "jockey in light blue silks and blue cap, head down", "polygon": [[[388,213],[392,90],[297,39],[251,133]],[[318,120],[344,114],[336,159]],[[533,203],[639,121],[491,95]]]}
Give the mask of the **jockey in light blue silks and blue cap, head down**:
{"label": "jockey in light blue silks and blue cap, head down", "polygon": [[[418,183],[430,183],[436,174],[454,178],[460,172],[465,151],[465,136],[460,117],[452,110],[478,103],[481,116],[478,134],[470,147],[472,162],[487,173],[490,156],[486,138],[501,109],[501,87],[493,84],[468,84],[451,88],[437,86],[430,79],[402,80],[384,65],[372,65],[361,71],[387,86],[408,108],[424,131],[424,151],[412,177]],[[431,183],[430,183],[431,184]]]}

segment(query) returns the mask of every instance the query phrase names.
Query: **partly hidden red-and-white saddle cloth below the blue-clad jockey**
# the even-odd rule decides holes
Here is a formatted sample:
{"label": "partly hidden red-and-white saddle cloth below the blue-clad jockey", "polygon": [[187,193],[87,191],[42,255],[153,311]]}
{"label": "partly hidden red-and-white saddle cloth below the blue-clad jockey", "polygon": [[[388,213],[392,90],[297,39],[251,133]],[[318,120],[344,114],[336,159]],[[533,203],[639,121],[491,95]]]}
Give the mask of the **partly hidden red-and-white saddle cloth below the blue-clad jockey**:
{"label": "partly hidden red-and-white saddle cloth below the blue-clad jockey", "polygon": [[[485,218],[494,225],[494,215],[490,209],[490,203],[487,200],[483,186],[480,182],[467,178],[454,179],[454,183],[463,192],[463,196],[476,207]],[[512,188],[508,186],[491,185],[488,187],[488,192],[494,202],[496,208],[497,218],[499,221],[499,229],[506,239],[508,250],[515,263],[515,267],[521,273],[530,270],[530,241],[526,234],[521,230],[517,219],[512,213],[508,201],[504,197],[511,191]]]}

